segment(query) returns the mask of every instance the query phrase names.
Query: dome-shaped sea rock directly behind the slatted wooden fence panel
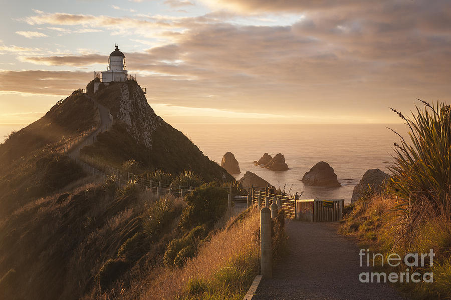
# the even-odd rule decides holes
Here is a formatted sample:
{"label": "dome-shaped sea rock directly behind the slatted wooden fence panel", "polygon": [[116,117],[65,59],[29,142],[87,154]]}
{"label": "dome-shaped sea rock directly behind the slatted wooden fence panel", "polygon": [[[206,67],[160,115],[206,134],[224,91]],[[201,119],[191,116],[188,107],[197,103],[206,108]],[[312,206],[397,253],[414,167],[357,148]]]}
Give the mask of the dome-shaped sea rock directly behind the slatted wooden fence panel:
{"label": "dome-shaped sea rock directly behind the slatted wooden fence panel", "polygon": [[337,180],[334,169],[324,161],[318,162],[310,171],[304,174],[302,182],[305,185],[324,186],[324,187],[340,187],[341,184]]}

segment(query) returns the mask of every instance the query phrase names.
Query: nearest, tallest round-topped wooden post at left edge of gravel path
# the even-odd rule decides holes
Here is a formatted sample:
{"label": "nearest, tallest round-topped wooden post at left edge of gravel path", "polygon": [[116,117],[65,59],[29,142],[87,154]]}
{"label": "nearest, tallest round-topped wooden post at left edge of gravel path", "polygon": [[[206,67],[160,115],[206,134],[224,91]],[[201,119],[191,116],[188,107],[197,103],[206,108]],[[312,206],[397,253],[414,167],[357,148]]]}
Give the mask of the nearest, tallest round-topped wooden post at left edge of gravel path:
{"label": "nearest, tallest round-topped wooden post at left edge of gravel path", "polygon": [[273,276],[271,229],[271,210],[263,207],[260,211],[260,267],[265,278]]}

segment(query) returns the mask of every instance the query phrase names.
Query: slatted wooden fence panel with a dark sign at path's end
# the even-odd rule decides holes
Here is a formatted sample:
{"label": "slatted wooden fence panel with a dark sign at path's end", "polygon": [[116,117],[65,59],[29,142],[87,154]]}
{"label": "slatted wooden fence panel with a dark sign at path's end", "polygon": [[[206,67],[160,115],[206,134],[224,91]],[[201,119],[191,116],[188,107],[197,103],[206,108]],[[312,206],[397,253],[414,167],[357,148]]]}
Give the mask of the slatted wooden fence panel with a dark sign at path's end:
{"label": "slatted wooden fence panel with a dark sign at path's end", "polygon": [[296,200],[296,219],[301,221],[341,221],[344,200]]}

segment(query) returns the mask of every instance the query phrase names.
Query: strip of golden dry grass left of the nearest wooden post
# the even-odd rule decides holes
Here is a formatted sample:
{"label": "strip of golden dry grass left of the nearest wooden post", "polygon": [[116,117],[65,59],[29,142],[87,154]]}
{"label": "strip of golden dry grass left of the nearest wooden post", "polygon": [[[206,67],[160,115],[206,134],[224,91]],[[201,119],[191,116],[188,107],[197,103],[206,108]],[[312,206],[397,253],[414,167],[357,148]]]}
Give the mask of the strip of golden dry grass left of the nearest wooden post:
{"label": "strip of golden dry grass left of the nearest wooden post", "polygon": [[[227,224],[231,224],[231,219]],[[228,226],[226,226],[227,228]],[[258,255],[259,214],[253,209],[248,218],[228,229],[218,231],[203,244],[197,256],[182,268],[157,267],[149,275],[150,286],[143,292],[143,299],[175,299],[185,291],[192,280],[209,280],[231,258],[243,253]]]}

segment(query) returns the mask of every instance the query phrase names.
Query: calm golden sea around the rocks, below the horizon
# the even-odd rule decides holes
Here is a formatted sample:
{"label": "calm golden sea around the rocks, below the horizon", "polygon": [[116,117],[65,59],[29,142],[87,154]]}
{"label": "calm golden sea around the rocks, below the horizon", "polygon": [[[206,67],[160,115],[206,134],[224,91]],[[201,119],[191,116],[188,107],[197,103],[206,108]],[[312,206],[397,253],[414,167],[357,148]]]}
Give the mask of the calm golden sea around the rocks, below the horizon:
{"label": "calm golden sea around the rocks, below the horizon", "polygon": [[[349,203],[354,186],[368,169],[389,172],[394,142],[399,137],[387,127],[405,135],[403,124],[171,124],[182,131],[209,159],[220,164],[225,152],[232,152],[240,164],[240,179],[251,171],[276,187],[301,199],[344,199]],[[25,124],[0,125],[0,142]],[[289,170],[271,171],[255,166],[268,152],[282,153]],[[305,186],[301,179],[317,162],[334,168],[337,188]]]}

